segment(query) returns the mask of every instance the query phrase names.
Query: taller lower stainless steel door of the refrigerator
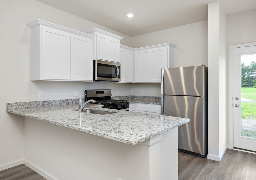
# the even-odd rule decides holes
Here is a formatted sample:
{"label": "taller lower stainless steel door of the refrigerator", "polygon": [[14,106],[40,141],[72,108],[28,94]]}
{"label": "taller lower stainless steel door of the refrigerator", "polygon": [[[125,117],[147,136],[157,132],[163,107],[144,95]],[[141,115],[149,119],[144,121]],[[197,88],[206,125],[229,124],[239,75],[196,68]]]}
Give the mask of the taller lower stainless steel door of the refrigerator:
{"label": "taller lower stainless steel door of the refrigerator", "polygon": [[162,115],[189,118],[178,127],[179,149],[204,154],[204,97],[162,96]]}

